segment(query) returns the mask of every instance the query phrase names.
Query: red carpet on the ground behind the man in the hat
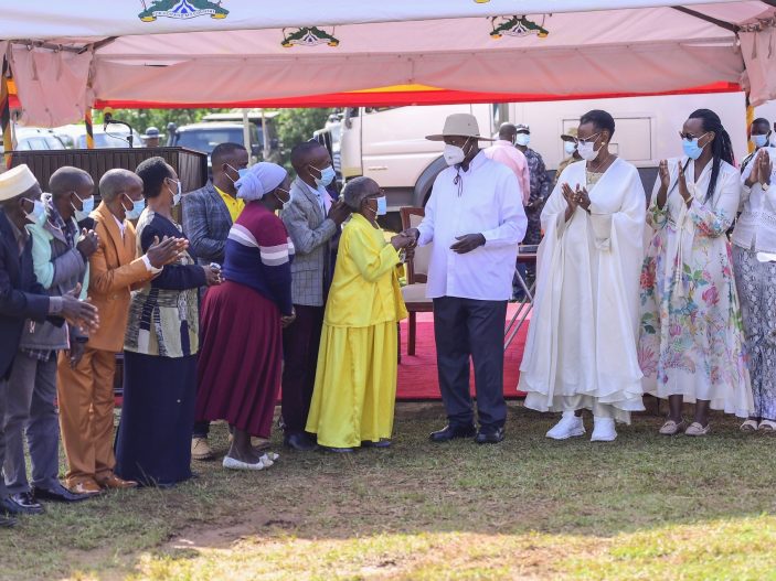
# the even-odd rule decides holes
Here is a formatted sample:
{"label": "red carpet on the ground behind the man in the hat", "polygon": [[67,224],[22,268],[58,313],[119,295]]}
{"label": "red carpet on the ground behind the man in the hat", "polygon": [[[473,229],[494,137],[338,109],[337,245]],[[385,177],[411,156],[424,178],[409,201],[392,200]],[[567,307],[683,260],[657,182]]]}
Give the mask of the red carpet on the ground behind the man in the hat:
{"label": "red carpet on the ground behind the man in the hat", "polygon": [[[508,320],[512,318],[518,305],[510,304]],[[520,377],[520,362],[525,348],[528,321],[520,329],[512,344],[504,354],[503,392],[514,398],[524,394],[517,391]],[[475,370],[470,370],[471,395],[475,394]],[[402,322],[402,363],[398,365],[396,399],[440,399],[439,383],[436,373],[436,348],[434,345],[434,314],[417,313],[417,341],[415,355],[407,355],[407,322]]]}

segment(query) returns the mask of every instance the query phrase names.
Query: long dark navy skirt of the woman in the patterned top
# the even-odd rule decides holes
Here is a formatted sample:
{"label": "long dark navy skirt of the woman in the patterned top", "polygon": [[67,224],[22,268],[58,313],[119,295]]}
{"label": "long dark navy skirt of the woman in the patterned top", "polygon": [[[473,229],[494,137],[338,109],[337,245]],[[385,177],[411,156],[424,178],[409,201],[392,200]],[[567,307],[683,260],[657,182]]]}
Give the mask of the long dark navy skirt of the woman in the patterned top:
{"label": "long dark navy skirt of the woman in the patterned top", "polygon": [[196,355],[125,351],[116,474],[162,487],[190,478],[195,397]]}

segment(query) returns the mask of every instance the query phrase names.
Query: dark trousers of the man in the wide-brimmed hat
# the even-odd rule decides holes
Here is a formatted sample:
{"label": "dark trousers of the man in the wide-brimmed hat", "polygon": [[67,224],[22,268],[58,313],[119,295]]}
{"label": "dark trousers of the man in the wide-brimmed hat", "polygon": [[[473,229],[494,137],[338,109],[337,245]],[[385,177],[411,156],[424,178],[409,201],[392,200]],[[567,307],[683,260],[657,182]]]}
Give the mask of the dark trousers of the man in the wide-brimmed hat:
{"label": "dark trousers of the man in the wide-brimmed hat", "polygon": [[469,395],[469,359],[475,364],[477,413],[481,427],[502,427],[503,329],[507,301],[434,299],[434,335],[439,389],[453,426],[474,423]]}

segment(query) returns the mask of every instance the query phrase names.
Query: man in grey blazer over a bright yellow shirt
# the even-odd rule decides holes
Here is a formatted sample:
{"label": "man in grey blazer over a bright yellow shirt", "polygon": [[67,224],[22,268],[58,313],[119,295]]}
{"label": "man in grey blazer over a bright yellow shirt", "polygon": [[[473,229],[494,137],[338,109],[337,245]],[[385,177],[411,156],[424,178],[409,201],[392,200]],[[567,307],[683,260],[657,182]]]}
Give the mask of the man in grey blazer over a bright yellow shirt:
{"label": "man in grey blazer over a bright yellow shirt", "polygon": [[[210,159],[213,180],[182,197],[183,232],[198,263],[223,265],[228,230],[244,206],[244,202],[237,198],[234,183],[240,179],[240,170],[248,166],[248,152],[240,143],[220,143]],[[194,460],[214,458],[208,443],[209,431],[210,422],[194,423],[191,437],[191,458]]]}

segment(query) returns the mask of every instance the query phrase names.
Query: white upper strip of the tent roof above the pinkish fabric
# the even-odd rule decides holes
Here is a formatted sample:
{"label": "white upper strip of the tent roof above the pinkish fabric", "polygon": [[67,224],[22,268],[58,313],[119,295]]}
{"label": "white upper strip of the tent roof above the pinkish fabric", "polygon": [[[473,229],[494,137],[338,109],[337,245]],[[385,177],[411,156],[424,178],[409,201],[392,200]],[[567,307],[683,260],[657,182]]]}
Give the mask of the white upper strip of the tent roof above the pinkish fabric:
{"label": "white upper strip of the tent roof above the pinkish fabric", "polygon": [[[684,0],[685,6],[726,0]],[[502,14],[586,12],[667,6],[665,0],[140,0],[4,2],[0,39],[73,39],[199,30],[262,30],[403,22]],[[145,9],[145,10],[143,10]],[[33,18],[31,18],[33,17]]]}

